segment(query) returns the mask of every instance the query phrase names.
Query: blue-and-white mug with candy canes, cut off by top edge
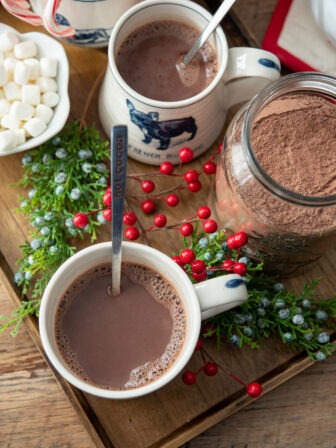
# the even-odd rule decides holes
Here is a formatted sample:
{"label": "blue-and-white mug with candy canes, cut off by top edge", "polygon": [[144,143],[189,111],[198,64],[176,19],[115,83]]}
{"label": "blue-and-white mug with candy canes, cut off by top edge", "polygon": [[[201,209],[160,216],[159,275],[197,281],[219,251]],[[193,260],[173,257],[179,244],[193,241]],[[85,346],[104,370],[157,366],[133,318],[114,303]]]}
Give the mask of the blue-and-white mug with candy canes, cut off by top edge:
{"label": "blue-and-white mug with candy canes, cut off by top edge", "polygon": [[1,0],[14,16],[53,36],[89,47],[108,45],[117,19],[142,0]]}

